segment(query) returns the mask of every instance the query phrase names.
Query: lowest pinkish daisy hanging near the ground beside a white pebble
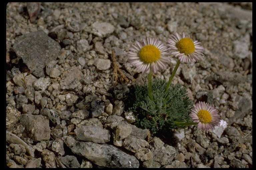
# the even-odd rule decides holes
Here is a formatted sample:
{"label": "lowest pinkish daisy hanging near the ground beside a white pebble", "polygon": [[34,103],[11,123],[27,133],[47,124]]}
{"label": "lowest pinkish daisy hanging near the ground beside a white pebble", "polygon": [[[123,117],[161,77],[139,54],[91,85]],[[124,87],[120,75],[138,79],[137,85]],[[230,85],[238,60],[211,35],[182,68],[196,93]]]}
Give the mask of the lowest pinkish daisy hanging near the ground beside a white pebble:
{"label": "lowest pinkish daisy hanging near the ground beside a white pebble", "polygon": [[218,126],[220,122],[218,111],[205,102],[194,105],[194,109],[191,109],[191,117],[194,120],[193,122],[198,123],[199,128],[206,130],[206,133],[209,129]]}

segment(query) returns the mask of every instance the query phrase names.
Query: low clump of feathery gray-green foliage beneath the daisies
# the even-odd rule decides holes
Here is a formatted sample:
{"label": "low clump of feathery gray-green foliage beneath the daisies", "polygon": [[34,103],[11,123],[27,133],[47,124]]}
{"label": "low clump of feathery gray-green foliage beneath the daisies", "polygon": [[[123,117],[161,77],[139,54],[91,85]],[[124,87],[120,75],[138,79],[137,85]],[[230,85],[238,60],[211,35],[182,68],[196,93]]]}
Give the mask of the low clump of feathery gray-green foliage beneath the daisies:
{"label": "low clump of feathery gray-green foliage beneath the daisies", "polygon": [[187,90],[180,84],[171,84],[164,93],[167,83],[154,79],[152,82],[154,102],[148,96],[148,86],[135,85],[134,93],[130,93],[127,102],[136,117],[135,125],[151,130],[152,134],[185,128],[175,125],[174,121],[191,122],[189,113],[193,102],[187,96]]}

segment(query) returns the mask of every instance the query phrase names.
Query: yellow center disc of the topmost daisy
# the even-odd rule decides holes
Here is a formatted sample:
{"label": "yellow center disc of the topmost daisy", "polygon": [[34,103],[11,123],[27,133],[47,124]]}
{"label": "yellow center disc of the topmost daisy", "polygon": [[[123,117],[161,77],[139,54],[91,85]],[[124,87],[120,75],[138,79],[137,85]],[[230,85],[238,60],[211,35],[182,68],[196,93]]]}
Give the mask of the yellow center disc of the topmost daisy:
{"label": "yellow center disc of the topmost daisy", "polygon": [[177,42],[176,46],[181,53],[186,55],[189,55],[195,51],[195,44],[188,37],[181,39],[179,42]]}

